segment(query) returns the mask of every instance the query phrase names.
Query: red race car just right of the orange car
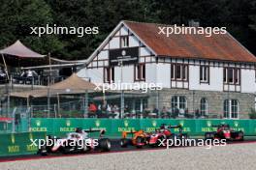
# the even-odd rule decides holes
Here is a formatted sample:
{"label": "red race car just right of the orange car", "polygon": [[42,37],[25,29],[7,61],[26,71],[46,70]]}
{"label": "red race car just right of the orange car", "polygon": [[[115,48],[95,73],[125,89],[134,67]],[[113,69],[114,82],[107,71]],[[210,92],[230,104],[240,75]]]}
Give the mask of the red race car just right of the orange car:
{"label": "red race car just right of the orange car", "polygon": [[[171,128],[178,128],[178,133],[173,133]],[[166,126],[162,124],[160,128],[156,129],[154,133],[149,136],[149,146],[159,146],[161,141],[172,138],[187,138],[187,133],[182,133],[182,126]]]}

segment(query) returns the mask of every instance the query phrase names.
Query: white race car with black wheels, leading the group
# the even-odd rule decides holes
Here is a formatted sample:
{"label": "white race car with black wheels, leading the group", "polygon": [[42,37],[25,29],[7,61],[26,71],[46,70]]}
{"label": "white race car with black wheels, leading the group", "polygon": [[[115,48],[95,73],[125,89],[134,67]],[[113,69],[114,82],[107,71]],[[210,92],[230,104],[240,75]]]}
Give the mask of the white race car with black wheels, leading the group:
{"label": "white race car with black wheels, leading the group", "polygon": [[[99,132],[99,138],[89,137],[92,132]],[[104,134],[105,130],[77,128],[75,132],[68,133],[66,138],[48,136],[47,140],[39,145],[38,154],[47,156],[55,153],[86,153],[96,150],[108,152],[112,145],[109,138],[103,138]]]}

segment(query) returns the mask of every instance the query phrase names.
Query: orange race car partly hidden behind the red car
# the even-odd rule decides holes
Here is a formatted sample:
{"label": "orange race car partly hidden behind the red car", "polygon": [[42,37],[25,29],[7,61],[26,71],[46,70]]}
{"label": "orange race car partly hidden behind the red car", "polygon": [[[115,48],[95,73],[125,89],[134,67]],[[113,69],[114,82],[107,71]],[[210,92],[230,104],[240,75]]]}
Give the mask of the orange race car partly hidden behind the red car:
{"label": "orange race car partly hidden behind the red car", "polygon": [[[132,134],[132,138],[128,139],[127,135]],[[128,145],[136,146],[137,148],[142,148],[148,143],[149,133],[144,132],[144,130],[139,131],[123,131],[122,138],[120,140],[121,147],[127,147]]]}

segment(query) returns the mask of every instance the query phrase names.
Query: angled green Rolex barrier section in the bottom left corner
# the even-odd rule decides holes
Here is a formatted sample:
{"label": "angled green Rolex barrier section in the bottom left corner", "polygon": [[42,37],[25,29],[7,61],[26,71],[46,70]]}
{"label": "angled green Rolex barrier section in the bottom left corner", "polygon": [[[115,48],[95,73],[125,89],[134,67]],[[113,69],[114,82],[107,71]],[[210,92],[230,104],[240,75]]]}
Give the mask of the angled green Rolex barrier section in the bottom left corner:
{"label": "angled green Rolex barrier section in the bottom left corner", "polygon": [[22,132],[0,134],[0,156],[36,154],[35,139],[45,139],[46,132]]}

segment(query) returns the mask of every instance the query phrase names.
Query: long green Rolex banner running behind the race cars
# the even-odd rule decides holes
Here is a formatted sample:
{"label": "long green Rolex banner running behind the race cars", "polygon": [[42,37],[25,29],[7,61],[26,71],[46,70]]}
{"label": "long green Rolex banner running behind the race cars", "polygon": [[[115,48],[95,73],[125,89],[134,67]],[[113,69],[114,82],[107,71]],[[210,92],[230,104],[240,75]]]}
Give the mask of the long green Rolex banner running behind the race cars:
{"label": "long green Rolex banner running behind the race cars", "polygon": [[[255,120],[175,120],[175,119],[32,119],[30,131],[46,131],[48,134],[65,135],[75,128],[106,129],[107,135],[118,137],[122,131],[144,129],[154,131],[161,124],[182,125],[189,135],[204,135],[214,130],[212,126],[228,124],[235,130],[244,131],[245,135],[256,135]],[[173,129],[178,130],[178,129]],[[174,132],[175,132],[174,131]],[[177,132],[177,131],[176,131]]]}

